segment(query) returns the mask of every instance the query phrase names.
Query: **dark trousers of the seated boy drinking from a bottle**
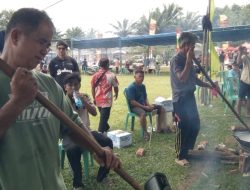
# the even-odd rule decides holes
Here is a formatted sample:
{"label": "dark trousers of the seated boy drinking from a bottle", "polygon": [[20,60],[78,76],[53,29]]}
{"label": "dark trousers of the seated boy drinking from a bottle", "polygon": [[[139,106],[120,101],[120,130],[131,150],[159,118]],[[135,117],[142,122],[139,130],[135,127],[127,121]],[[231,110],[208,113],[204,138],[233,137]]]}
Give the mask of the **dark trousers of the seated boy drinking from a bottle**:
{"label": "dark trousers of the seated boy drinking from a bottle", "polygon": [[[110,147],[113,149],[113,143],[110,138],[98,133],[97,131],[92,131],[92,135],[94,136],[95,140],[102,146],[102,147]],[[81,155],[83,149],[79,146],[75,146],[72,149],[67,150],[66,154],[69,160],[69,164],[71,166],[73,172],[73,187],[81,187],[83,186],[82,183],[82,165],[81,165]],[[109,169],[105,167],[100,167],[97,174],[97,181],[102,181],[107,174],[109,173]]]}

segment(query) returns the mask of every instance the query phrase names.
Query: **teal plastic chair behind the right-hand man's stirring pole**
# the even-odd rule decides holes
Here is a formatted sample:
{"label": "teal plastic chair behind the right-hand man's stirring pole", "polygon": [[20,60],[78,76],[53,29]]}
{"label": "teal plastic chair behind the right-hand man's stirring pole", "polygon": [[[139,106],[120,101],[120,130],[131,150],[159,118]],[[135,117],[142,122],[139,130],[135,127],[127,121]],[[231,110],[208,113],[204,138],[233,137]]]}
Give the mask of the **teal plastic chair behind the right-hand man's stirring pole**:
{"label": "teal plastic chair behind the right-hand man's stirring pole", "polygon": [[[238,100],[238,94],[239,94],[239,79],[235,77],[227,77],[225,80],[225,96],[233,107],[235,106],[235,103]],[[226,113],[227,108],[228,106],[226,104],[224,108],[224,114]]]}

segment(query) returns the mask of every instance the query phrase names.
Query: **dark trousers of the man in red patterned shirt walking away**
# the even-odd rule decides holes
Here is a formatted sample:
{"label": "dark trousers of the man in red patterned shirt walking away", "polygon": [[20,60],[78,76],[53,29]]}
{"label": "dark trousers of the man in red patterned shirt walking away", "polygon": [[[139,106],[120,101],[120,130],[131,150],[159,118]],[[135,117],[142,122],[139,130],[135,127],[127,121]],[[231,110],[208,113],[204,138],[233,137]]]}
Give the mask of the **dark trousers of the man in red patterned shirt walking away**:
{"label": "dark trousers of the man in red patterned shirt walking away", "polygon": [[107,132],[110,128],[108,124],[108,120],[110,116],[111,107],[106,107],[106,108],[98,107],[98,110],[100,112],[100,121],[99,121],[98,131],[101,133]]}

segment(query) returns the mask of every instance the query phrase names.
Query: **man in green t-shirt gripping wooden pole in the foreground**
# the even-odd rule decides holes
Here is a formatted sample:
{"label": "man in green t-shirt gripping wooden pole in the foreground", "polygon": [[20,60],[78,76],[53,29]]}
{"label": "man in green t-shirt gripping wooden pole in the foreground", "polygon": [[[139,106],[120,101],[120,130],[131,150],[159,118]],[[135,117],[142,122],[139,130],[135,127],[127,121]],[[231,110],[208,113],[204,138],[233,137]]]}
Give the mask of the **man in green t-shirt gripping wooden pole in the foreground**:
{"label": "man in green t-shirt gripping wooden pole in the foreground", "polygon": [[[59,164],[60,132],[88,148],[76,132],[60,125],[60,120],[35,100],[39,89],[76,124],[82,125],[62,88],[51,77],[33,70],[48,53],[54,31],[49,16],[33,8],[14,12],[6,27],[1,59],[16,71],[12,79],[0,72],[2,190],[66,190]],[[88,135],[93,138],[91,133]],[[120,161],[112,150],[102,149],[106,167],[119,167]]]}

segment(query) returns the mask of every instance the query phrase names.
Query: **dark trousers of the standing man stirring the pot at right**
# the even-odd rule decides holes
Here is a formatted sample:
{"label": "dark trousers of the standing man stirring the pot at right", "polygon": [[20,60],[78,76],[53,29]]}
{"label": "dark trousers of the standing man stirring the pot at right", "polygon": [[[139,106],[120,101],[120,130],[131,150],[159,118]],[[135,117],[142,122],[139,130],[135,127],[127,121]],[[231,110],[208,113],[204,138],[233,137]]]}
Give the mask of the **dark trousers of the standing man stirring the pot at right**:
{"label": "dark trousers of the standing man stirring the pot at right", "polygon": [[200,130],[200,118],[195,96],[193,93],[186,94],[173,105],[178,121],[175,143],[177,158],[187,159],[188,150],[194,148]]}

